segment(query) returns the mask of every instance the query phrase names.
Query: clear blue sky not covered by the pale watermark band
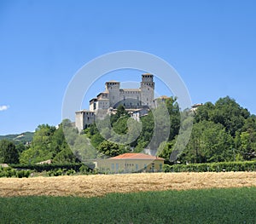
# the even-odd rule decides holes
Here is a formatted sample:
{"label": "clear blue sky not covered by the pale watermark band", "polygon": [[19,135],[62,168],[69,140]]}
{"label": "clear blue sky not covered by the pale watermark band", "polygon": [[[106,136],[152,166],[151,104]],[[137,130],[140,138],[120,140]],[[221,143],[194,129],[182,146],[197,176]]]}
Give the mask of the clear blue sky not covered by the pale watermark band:
{"label": "clear blue sky not covered by the pale watermark band", "polygon": [[[256,113],[255,11],[256,2],[248,0],[2,0],[0,135],[61,123],[63,97],[76,72],[120,50],[166,60],[193,103],[229,95]],[[130,72],[99,79],[83,106],[88,108],[86,97],[103,91],[109,78],[131,81]],[[139,82],[141,72],[131,73]],[[157,91],[168,94],[162,86]]]}

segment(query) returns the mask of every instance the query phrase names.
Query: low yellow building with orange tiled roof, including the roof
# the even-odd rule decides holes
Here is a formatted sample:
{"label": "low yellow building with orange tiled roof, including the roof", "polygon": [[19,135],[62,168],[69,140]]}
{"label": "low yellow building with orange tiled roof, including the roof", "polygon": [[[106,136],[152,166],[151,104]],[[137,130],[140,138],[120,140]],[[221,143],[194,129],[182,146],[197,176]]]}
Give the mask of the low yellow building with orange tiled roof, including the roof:
{"label": "low yellow building with orange tiled roof, including the roof", "polygon": [[164,160],[143,153],[125,153],[113,158],[97,160],[96,168],[111,173],[159,172],[163,168]]}

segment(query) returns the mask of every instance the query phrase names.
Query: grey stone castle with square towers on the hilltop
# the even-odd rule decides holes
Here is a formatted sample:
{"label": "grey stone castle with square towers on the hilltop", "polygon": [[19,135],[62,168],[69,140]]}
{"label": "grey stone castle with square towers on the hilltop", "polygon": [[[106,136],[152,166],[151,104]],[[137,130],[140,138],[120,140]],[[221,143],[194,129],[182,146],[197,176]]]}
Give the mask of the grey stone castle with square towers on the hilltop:
{"label": "grey stone castle with square towers on the hilltop", "polygon": [[90,110],[75,112],[75,125],[79,131],[94,123],[95,114],[99,110],[114,113],[119,105],[125,106],[131,117],[138,120],[148,113],[148,108],[154,106],[154,76],[143,74],[139,89],[120,89],[120,83],[109,81],[105,83],[105,91],[90,100]]}

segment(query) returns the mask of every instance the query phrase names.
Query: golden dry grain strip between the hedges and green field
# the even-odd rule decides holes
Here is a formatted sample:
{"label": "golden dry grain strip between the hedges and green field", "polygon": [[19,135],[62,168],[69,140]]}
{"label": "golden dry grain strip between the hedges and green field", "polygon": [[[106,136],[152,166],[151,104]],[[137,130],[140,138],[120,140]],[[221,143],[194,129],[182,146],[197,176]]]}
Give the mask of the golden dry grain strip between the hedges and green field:
{"label": "golden dry grain strip between the hedges and green field", "polygon": [[0,197],[103,196],[108,192],[187,190],[212,187],[256,187],[256,172],[154,173],[1,178]]}

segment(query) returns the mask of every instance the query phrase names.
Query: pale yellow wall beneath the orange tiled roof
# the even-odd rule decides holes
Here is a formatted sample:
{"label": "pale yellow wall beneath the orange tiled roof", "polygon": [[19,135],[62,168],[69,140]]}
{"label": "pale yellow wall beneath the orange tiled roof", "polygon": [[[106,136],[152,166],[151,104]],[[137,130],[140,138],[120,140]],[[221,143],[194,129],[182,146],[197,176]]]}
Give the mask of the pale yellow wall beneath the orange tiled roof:
{"label": "pale yellow wall beneath the orange tiled roof", "polygon": [[110,173],[160,172],[163,165],[163,160],[151,159],[102,159],[96,162],[97,169]]}

